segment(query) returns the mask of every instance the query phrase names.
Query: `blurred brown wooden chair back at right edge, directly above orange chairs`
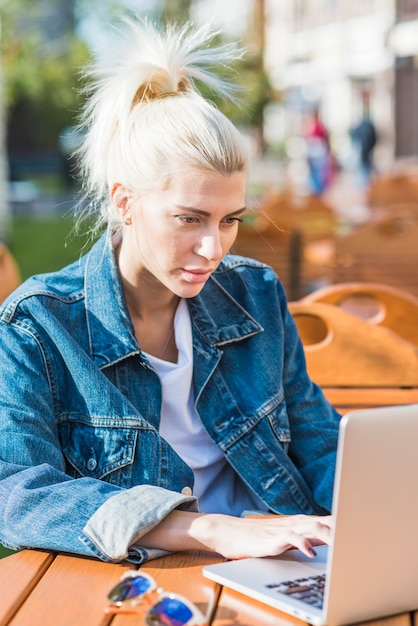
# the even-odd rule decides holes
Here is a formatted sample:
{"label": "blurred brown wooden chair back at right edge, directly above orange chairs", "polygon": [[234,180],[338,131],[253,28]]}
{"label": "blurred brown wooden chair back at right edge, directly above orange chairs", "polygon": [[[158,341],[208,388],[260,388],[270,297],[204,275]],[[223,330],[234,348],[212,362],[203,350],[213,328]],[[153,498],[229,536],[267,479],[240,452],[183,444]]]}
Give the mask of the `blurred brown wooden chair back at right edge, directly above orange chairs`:
{"label": "blurred brown wooden chair back at right edge, directly above orange chairs", "polygon": [[383,283],[418,296],[418,217],[372,221],[336,239],[332,283]]}

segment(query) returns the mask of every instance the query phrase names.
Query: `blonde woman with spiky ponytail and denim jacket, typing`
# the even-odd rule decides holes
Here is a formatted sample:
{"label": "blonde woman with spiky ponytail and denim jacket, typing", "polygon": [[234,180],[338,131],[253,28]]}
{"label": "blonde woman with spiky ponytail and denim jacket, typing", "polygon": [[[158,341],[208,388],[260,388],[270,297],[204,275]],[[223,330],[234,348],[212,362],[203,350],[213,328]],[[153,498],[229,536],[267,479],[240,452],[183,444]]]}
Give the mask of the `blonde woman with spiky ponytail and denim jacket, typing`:
{"label": "blonde woman with spiky ponytail and denim jacket, typing", "polygon": [[80,155],[106,233],[1,310],[11,548],[140,563],[192,548],[312,556],[329,541],[339,416],[273,271],[228,255],[246,153],[194,80],[227,93],[207,67],[239,52],[210,38],[130,21],[93,67]]}

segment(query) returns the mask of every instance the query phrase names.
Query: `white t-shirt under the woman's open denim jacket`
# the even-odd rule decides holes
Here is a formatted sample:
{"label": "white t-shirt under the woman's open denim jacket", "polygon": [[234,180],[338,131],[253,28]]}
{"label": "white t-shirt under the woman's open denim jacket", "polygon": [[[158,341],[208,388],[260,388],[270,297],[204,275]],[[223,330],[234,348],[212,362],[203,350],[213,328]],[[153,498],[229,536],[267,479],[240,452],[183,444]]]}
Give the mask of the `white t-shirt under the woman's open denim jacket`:
{"label": "white t-shirt under the woman's open denim jacket", "polygon": [[240,515],[245,509],[266,510],[265,504],[227,463],[194,409],[192,327],[185,299],[177,307],[174,334],[177,363],[150,354],[147,357],[162,385],[160,435],[192,468],[193,493],[199,500],[199,510],[229,515]]}

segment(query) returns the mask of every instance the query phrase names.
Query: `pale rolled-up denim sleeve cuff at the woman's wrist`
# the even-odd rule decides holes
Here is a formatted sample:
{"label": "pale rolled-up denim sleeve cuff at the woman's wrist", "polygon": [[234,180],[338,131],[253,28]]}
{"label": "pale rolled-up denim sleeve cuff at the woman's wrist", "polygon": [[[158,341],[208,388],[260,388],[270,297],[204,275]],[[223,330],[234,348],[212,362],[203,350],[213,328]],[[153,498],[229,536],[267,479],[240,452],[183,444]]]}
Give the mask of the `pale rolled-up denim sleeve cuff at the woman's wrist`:
{"label": "pale rolled-up denim sleeve cuff at the woman's wrist", "polygon": [[103,561],[140,564],[167,554],[143,548],[140,539],[174,509],[197,511],[197,500],[175,491],[139,485],[109,498],[83,528],[81,542]]}

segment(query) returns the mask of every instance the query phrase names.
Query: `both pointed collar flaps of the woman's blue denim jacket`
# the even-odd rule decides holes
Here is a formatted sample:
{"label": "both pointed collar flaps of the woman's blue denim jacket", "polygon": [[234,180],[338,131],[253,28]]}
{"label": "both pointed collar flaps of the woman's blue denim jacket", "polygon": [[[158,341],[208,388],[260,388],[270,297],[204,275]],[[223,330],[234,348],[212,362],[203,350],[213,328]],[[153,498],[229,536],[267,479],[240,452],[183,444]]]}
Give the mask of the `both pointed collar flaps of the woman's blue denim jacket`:
{"label": "both pointed collar flaps of the woman's blue denim jacket", "polygon": [[[188,301],[195,330],[211,346],[244,339],[263,330],[223,287],[222,276],[229,275],[225,269],[228,268],[221,264],[201,293]],[[85,294],[91,357],[97,365],[106,367],[139,354],[110,233],[105,233],[88,254]]]}

